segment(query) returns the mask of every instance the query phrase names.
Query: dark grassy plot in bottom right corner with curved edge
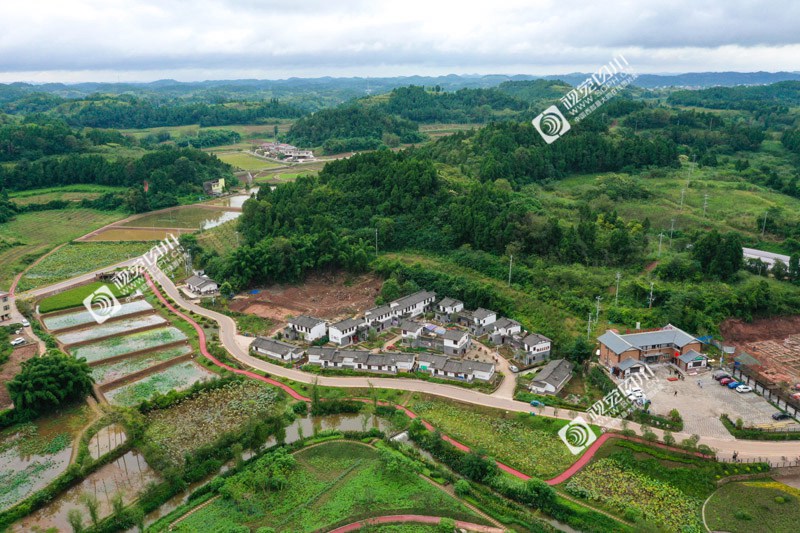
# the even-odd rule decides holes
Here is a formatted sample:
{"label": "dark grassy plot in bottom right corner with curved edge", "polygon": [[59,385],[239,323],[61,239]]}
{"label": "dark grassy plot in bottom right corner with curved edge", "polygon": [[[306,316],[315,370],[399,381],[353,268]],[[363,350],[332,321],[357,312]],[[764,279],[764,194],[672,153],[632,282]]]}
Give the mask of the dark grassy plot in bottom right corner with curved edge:
{"label": "dark grassy plot in bottom right corner with curved edge", "polygon": [[728,483],[708,500],[706,522],[731,533],[797,531],[800,490],[772,480]]}

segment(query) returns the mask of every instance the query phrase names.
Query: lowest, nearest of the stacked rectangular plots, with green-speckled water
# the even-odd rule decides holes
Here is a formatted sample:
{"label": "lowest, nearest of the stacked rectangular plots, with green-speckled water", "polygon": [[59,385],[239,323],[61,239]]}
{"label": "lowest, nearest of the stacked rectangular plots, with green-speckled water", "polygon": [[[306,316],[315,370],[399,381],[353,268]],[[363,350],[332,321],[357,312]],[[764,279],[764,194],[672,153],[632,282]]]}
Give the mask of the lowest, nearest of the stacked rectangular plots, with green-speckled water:
{"label": "lowest, nearest of the stacked rectangular plots, with green-speckled water", "polygon": [[165,368],[157,374],[151,374],[133,383],[106,391],[103,394],[112,405],[133,407],[149,400],[156,394],[166,394],[171,390],[187,389],[198,381],[207,381],[216,377],[216,374],[205,370],[194,362],[186,361]]}

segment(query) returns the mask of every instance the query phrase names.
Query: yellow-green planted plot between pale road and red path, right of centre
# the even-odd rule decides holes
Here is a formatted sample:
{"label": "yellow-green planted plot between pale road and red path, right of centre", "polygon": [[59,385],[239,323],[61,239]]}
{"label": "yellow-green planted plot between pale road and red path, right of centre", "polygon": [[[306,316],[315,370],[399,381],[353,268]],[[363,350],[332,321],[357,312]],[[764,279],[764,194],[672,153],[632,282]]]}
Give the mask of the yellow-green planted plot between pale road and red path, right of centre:
{"label": "yellow-green planted plot between pale road and red path, right of centre", "polygon": [[552,477],[576,459],[557,434],[567,423],[565,420],[465,407],[442,400],[418,400],[409,408],[442,433],[471,448],[484,449],[498,461],[528,475]]}

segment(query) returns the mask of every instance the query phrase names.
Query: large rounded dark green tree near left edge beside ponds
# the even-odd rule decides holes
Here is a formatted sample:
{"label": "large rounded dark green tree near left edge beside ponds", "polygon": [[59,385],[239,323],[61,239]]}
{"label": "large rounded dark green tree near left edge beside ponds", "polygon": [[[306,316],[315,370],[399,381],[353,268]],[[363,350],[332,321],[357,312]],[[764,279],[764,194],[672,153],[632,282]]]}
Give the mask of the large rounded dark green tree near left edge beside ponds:
{"label": "large rounded dark green tree near left edge beside ponds", "polygon": [[22,369],[6,385],[20,413],[37,416],[71,402],[83,400],[94,379],[85,359],[51,350],[22,363]]}

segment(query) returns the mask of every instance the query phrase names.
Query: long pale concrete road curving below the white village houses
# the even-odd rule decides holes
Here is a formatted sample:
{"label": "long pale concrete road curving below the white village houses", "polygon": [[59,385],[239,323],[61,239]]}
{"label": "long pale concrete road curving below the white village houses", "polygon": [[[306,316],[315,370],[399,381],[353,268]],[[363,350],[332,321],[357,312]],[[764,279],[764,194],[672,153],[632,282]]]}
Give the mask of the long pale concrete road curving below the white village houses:
{"label": "long pale concrete road curving below the white village houses", "polygon": [[[210,318],[219,324],[220,341],[228,353],[231,354],[231,356],[246,366],[255,368],[262,372],[267,372],[271,375],[280,376],[300,383],[313,383],[316,380],[319,385],[326,387],[368,388],[371,384],[375,387],[383,389],[421,392],[434,396],[449,398],[459,402],[493,407],[506,411],[524,413],[536,412],[537,414],[543,416],[561,418],[564,420],[571,420],[576,416],[586,415],[586,413],[569,411],[567,409],[554,409],[552,407],[535,408],[534,410],[534,408],[525,402],[516,401],[507,397],[492,396],[455,385],[444,385],[441,383],[431,383],[428,381],[405,378],[318,376],[317,374],[309,374],[301,370],[275,365],[262,359],[253,357],[247,352],[246,348],[241,346],[240,342],[242,341],[237,340],[237,338],[240,337],[241,339],[245,339],[245,342],[249,342],[252,339],[236,334],[236,322],[231,317],[210,309],[206,309],[204,307],[200,307],[197,304],[185,300],[175,284],[160,272],[157,276],[157,281],[164,289],[164,292],[166,292],[169,297],[172,298],[172,300],[175,301],[179,306],[192,311],[193,313],[197,313],[198,315]],[[619,419],[612,418],[608,419],[603,426],[607,429],[620,430],[622,429],[622,422]],[[627,424],[627,426],[629,429],[632,429],[639,434],[642,432],[641,425],[639,424],[630,422]],[[663,436],[663,432],[659,429],[652,428],[651,431],[653,431],[659,437]],[[691,435],[687,433],[673,433],[673,436],[676,440],[681,441],[689,438]],[[780,462],[784,457],[791,460],[800,454],[800,443],[796,441],[752,441],[735,439],[733,437],[718,438],[705,437],[701,435],[700,444],[705,444],[712,449],[717,450],[718,456],[722,457],[730,457],[734,451],[737,451],[739,458],[741,459],[764,459],[772,460],[773,462]]]}

